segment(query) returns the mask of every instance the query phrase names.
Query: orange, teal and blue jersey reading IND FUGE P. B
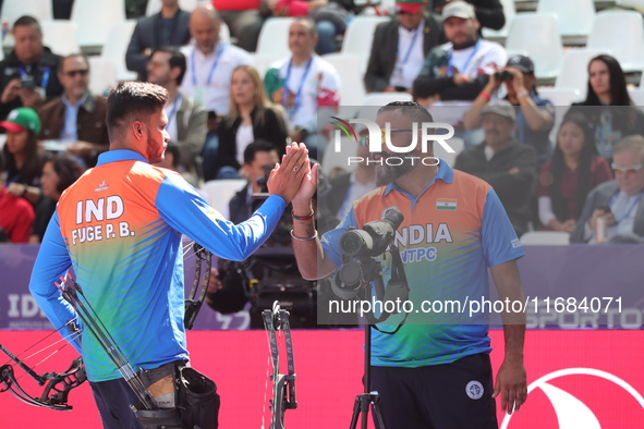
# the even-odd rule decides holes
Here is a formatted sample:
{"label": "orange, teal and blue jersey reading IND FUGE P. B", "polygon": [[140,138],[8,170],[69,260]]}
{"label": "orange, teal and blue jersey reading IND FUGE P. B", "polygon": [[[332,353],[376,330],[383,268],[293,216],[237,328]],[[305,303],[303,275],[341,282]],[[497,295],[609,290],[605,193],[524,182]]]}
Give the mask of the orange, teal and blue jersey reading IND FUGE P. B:
{"label": "orange, teal and blue jersey reading IND FUGE P. B", "polygon": [[[73,268],[135,369],[187,358],[181,234],[219,257],[243,260],[269,236],[284,208],[281,197],[271,196],[251,219],[234,225],[181,175],[151,167],[131,150],[108,151],[61,196],[29,290],[60,328],[76,315],[54,282]],[[90,381],[121,377],[88,330],[73,344]]]}

